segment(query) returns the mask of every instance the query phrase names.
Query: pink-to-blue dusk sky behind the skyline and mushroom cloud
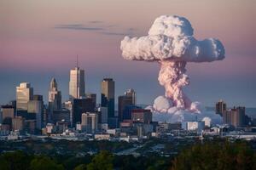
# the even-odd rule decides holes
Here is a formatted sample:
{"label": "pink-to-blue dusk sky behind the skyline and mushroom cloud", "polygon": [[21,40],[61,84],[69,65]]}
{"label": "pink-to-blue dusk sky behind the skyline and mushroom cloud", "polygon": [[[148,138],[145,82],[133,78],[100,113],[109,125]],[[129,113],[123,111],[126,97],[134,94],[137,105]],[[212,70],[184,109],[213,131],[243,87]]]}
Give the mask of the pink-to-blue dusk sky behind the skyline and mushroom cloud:
{"label": "pink-to-blue dusk sky behind the skyline and mushroom cloud", "polygon": [[[157,4],[159,8],[155,10],[152,10],[156,5],[153,1],[136,4],[116,1],[113,2],[116,4],[114,7],[102,1],[72,4],[53,1],[51,7],[43,1],[2,3],[1,105],[15,99],[15,87],[20,82],[30,82],[34,94],[42,94],[44,100],[47,99],[51,77],[58,80],[62,100],[68,99],[68,71],[75,66],[76,54],[79,54],[79,65],[85,73],[86,93],[100,96],[102,78],[111,77],[116,82],[116,103],[117,97],[127,88],[134,88],[138,104],[152,104],[156,96],[164,93],[164,88],[157,82],[160,66],[156,63],[124,61],[119,41],[126,34],[132,37],[147,35],[154,18],[160,14],[183,15],[193,24],[198,39],[218,37],[224,42],[226,59],[222,62],[188,65],[191,82],[184,90],[191,99],[207,106],[213,106],[218,99],[224,99],[230,106],[256,105],[256,80],[253,78],[256,73],[253,47],[255,23],[250,21],[255,14],[253,1],[215,1],[207,4],[202,1],[163,1]],[[145,3],[148,4],[146,7],[143,6]],[[135,17],[125,9],[122,11],[123,18],[115,15],[125,7],[134,10],[144,8],[150,13],[135,13]],[[65,8],[69,11],[64,12]],[[212,8],[218,8],[218,13]],[[44,14],[46,9],[48,14]],[[203,17],[202,11],[205,11]],[[97,103],[99,101],[98,97]]]}

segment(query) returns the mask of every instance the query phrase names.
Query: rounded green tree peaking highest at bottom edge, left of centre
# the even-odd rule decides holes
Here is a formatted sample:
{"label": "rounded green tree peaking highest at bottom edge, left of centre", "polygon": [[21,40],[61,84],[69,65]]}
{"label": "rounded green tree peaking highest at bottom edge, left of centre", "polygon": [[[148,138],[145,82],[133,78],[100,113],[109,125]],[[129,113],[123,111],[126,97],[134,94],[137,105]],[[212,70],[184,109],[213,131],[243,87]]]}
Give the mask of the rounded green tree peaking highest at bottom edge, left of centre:
{"label": "rounded green tree peaking highest at bottom edge, left of centre", "polygon": [[113,155],[103,150],[87,165],[88,170],[112,170],[113,169]]}

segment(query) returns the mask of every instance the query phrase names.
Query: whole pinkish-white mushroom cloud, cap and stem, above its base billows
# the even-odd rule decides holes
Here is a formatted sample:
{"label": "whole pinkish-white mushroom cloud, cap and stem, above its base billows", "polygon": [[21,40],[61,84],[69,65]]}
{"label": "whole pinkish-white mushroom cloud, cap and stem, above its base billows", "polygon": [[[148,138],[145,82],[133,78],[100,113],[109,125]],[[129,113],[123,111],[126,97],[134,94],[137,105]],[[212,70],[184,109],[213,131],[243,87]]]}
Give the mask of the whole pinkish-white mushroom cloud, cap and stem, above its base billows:
{"label": "whole pinkish-white mushroom cloud, cap and stem, above its base billows", "polygon": [[[224,46],[218,39],[198,41],[193,32],[189,20],[177,15],[162,15],[154,20],[148,36],[125,37],[120,45],[124,59],[158,62],[158,80],[166,88],[166,99],[170,105],[189,111],[197,111],[197,104],[183,93],[183,87],[189,84],[185,74],[187,62],[224,59]],[[154,109],[160,111],[160,108]]]}

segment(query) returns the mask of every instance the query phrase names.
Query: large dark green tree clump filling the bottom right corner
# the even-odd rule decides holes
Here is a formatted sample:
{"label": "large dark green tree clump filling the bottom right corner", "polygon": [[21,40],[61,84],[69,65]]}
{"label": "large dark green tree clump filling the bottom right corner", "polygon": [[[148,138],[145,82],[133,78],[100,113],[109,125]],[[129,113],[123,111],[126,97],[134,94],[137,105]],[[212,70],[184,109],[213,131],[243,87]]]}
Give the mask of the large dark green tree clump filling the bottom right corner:
{"label": "large dark green tree clump filling the bottom right corner", "polygon": [[255,169],[255,156],[246,143],[195,144],[174,159],[172,170]]}

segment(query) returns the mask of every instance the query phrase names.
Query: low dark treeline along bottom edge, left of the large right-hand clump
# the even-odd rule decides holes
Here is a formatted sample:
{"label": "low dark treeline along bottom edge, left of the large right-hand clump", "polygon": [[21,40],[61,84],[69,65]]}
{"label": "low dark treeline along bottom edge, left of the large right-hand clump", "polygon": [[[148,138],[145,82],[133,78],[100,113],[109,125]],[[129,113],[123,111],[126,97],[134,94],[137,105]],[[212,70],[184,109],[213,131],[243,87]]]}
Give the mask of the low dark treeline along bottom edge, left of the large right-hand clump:
{"label": "low dark treeline along bottom edge, left of the large right-hand clump", "polygon": [[102,150],[95,156],[37,156],[24,151],[6,152],[0,156],[1,170],[165,170],[170,167],[169,157],[115,156]]}

